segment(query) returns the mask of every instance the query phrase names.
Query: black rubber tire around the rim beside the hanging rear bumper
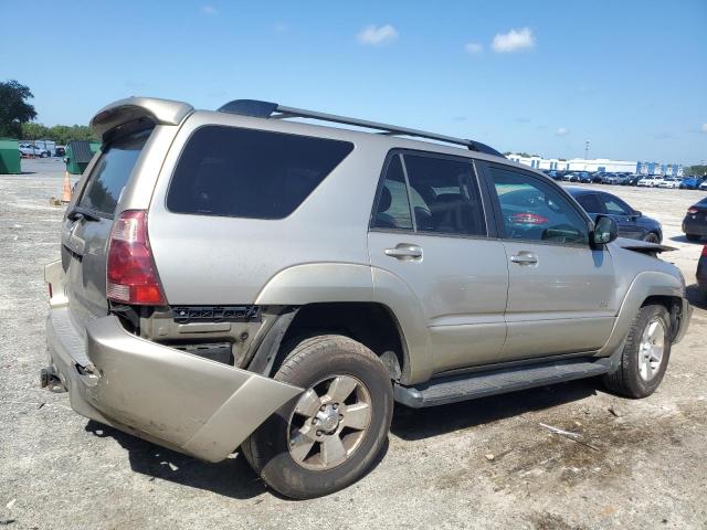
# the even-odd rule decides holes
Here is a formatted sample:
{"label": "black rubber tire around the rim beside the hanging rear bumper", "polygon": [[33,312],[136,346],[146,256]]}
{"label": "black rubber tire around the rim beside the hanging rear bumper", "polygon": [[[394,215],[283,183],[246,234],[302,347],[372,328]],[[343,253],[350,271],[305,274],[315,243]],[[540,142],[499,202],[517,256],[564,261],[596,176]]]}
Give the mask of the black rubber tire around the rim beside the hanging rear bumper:
{"label": "black rubber tire around the rim beside the hanging rear bumper", "polygon": [[297,463],[287,446],[289,422],[299,396],[283,405],[241,446],[243,455],[267,486],[295,499],[329,495],[361,478],[384,447],[393,412],[390,375],[363,344],[338,335],[300,341],[274,379],[309,389],[336,375],[356,378],[370,396],[370,421],[355,451],[339,465],[310,469]]}

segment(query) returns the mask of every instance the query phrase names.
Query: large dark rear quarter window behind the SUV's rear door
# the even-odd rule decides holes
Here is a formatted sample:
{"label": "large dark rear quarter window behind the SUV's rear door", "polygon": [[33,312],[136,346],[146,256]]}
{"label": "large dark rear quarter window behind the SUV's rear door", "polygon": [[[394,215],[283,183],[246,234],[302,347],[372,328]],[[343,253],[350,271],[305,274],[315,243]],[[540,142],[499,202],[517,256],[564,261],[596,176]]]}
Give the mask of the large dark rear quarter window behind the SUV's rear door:
{"label": "large dark rear quarter window behind the SUV's rear door", "polygon": [[352,149],[348,141],[202,127],[179,159],[167,208],[177,213],[283,219]]}

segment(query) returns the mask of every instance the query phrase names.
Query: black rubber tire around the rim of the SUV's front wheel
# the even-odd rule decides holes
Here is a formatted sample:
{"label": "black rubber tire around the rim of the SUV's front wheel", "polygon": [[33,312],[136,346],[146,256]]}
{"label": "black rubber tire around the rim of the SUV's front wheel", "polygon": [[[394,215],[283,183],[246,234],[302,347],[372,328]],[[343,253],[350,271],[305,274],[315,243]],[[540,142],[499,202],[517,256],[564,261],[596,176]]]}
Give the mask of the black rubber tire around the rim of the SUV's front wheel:
{"label": "black rubber tire around the rim of the SUV's front wheel", "polygon": [[[646,326],[654,319],[659,319],[664,329],[664,351],[659,367],[652,379],[641,377],[639,356],[641,340]],[[621,354],[619,369],[603,377],[604,386],[616,394],[626,398],[647,398],[658,388],[671,358],[671,316],[664,306],[643,306],[636,315],[629,337]]]}

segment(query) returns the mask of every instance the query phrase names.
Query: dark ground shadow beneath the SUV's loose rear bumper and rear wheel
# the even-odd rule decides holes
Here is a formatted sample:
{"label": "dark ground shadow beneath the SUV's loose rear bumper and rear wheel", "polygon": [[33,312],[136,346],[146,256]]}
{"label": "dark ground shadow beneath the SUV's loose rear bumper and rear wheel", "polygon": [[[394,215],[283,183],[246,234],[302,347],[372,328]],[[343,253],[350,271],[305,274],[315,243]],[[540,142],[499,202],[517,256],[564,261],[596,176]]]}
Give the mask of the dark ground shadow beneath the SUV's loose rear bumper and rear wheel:
{"label": "dark ground shadow beneath the SUV's loose rear bumper and rear wheel", "polygon": [[[212,464],[160,447],[93,420],[86,423],[85,430],[97,437],[110,436],[114,438],[127,451],[130,468],[136,473],[149,476],[149,480],[159,478],[234,499],[252,499],[270,491],[282,500],[293,500],[281,496],[277,491],[267,489],[241,453],[238,453],[234,458]],[[383,448],[371,463],[368,473],[382,462],[388,453],[388,447],[389,439],[386,438]]]}

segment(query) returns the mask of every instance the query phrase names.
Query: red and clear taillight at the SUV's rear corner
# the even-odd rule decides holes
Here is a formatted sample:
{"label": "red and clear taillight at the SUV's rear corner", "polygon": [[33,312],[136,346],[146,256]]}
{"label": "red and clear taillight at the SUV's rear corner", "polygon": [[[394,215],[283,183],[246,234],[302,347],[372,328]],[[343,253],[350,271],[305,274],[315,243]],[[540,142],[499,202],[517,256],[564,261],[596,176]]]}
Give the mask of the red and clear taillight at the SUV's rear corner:
{"label": "red and clear taillight at the SUV's rear corner", "polygon": [[144,210],[125,211],[113,223],[106,280],[106,296],[110,300],[167,305],[147,236],[147,212]]}

